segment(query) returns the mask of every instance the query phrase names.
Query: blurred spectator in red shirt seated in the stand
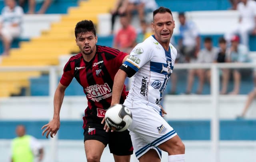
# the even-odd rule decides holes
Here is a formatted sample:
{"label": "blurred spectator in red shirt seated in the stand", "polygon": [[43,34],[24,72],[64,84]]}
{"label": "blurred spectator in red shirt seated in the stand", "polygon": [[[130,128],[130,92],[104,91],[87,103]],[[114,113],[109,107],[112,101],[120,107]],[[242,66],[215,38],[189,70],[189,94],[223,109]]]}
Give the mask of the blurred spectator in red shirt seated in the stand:
{"label": "blurred spectator in red shirt seated in the stand", "polygon": [[126,14],[120,15],[120,23],[122,28],[118,30],[114,38],[113,47],[125,53],[130,53],[136,45],[137,33],[134,27],[130,25]]}

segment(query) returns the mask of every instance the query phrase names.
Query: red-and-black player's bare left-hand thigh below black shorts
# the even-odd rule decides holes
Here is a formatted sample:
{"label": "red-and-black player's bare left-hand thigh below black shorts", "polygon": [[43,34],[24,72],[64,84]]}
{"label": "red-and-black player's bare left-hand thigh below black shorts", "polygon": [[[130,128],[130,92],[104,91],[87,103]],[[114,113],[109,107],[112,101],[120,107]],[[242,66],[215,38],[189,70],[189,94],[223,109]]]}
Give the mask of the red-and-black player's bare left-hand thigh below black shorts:
{"label": "red-and-black player's bare left-hand thigh below black shorts", "polygon": [[100,161],[100,157],[105,148],[105,145],[97,140],[84,141],[84,150],[88,161],[96,160]]}

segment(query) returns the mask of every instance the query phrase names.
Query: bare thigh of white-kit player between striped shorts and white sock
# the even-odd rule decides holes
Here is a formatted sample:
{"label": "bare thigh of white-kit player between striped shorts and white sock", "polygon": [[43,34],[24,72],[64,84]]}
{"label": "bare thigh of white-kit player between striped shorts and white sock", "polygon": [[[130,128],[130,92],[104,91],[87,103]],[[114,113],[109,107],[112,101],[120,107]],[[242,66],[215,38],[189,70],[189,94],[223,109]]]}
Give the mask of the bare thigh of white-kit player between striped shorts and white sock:
{"label": "bare thigh of white-kit player between striped shorts and white sock", "polygon": [[158,147],[168,152],[169,155],[185,153],[185,146],[178,135],[160,144]]}

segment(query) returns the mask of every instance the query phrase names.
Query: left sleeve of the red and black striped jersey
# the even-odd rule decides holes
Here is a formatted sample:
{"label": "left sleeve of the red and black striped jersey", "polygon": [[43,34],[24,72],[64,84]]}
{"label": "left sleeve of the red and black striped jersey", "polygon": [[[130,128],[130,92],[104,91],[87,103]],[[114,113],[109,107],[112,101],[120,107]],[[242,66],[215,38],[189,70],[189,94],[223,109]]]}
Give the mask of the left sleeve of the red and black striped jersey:
{"label": "left sleeve of the red and black striped jersey", "polygon": [[73,78],[74,78],[74,72],[71,68],[71,62],[69,60],[64,66],[63,74],[62,74],[62,77],[60,78],[60,83],[63,86],[69,86]]}

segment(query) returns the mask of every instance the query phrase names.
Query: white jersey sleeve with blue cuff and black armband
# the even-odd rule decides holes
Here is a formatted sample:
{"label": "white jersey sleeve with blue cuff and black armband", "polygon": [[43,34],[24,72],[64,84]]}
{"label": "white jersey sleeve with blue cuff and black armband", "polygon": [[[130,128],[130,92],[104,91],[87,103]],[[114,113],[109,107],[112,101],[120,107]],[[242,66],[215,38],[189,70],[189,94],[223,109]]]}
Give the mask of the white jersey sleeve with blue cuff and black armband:
{"label": "white jersey sleeve with blue cuff and black armband", "polygon": [[147,42],[142,42],[136,45],[130,56],[120,66],[120,69],[124,70],[128,77],[132,77],[144,64],[150,61],[153,57],[152,49]]}

